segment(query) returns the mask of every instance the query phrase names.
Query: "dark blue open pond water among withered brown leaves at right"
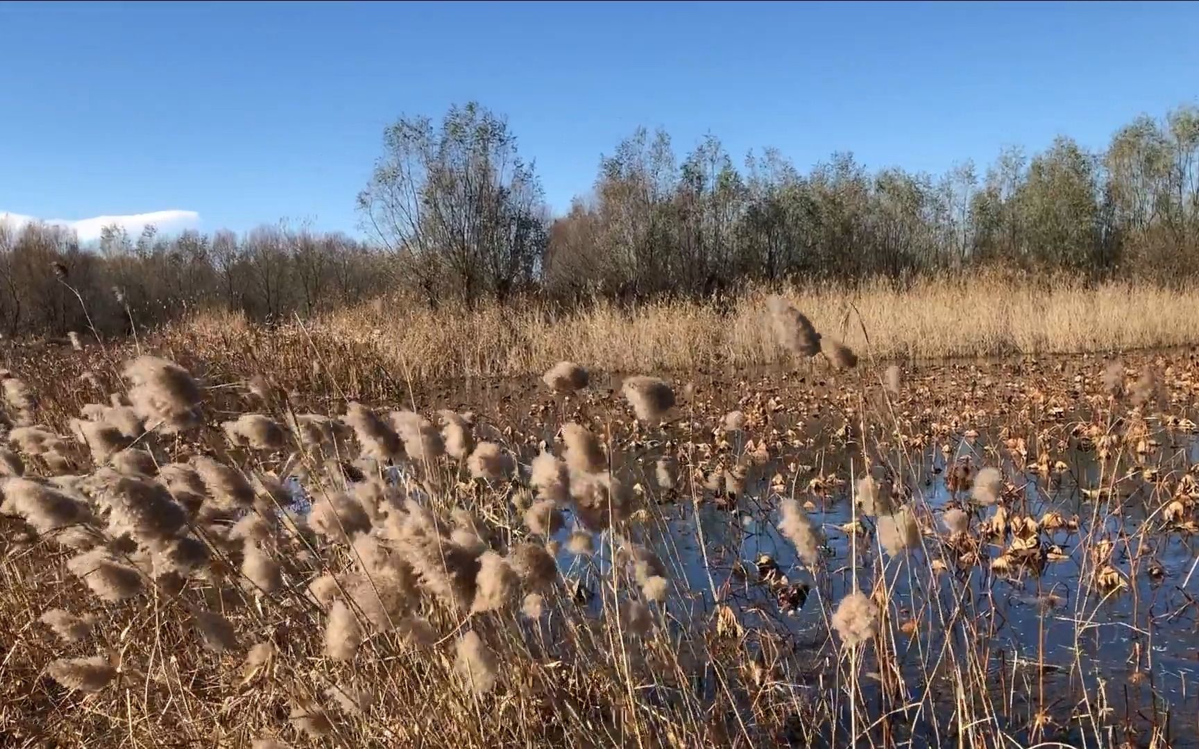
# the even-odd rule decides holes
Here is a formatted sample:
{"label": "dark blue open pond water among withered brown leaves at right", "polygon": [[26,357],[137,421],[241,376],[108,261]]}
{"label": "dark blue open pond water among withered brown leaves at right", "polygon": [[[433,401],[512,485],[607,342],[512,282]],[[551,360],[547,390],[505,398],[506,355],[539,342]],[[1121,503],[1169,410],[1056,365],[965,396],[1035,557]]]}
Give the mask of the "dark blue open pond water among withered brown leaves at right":
{"label": "dark blue open pond water among withered brown leaves at right", "polygon": [[[1176,471],[1186,471],[1199,464],[1199,440],[1179,439],[1164,431],[1157,436],[1164,446],[1159,461],[1163,473],[1171,465]],[[825,475],[861,475],[861,454],[855,455],[852,446],[846,447],[840,453],[825,453]],[[917,627],[917,636],[900,638],[897,642],[904,674],[909,677],[906,696],[912,701],[921,699],[921,691],[927,688],[921,676],[927,664],[938,659],[939,652],[957,658],[974,647],[983,654],[996,699],[1023,702],[1024,712],[1041,703],[1054,706],[1050,712],[1062,724],[1060,741],[1085,745],[1079,726],[1070,724],[1072,708],[1087,697],[1093,700],[1098,691],[1117,713],[1135,709],[1144,718],[1144,713],[1152,709],[1147,705],[1156,706],[1163,721],[1165,715],[1170,718],[1173,745],[1199,747],[1195,730],[1199,717],[1195,542],[1188,533],[1163,533],[1157,526],[1145,536],[1138,532],[1156,506],[1146,503],[1152,487],[1143,479],[1126,478],[1117,483],[1117,496],[1091,500],[1083,490],[1101,484],[1101,464],[1091,452],[1070,451],[1066,461],[1071,470],[1053,476],[1052,481],[1007,461],[1005,473],[1023,499],[1023,513],[1041,518],[1053,511],[1064,518],[1078,517],[1077,530],[1042,531],[1040,534],[1042,543],[1055,545],[1064,558],[1048,562],[1040,574],[1031,570],[998,574],[987,568],[987,555],[994,558],[1004,544],[992,543],[983,546],[982,566],[963,573],[956,572],[950,561],[948,570],[929,574],[928,557],[941,555],[928,531],[942,527],[940,513],[954,496],[946,484],[947,469],[964,455],[980,465],[986,459],[986,448],[982,439],[960,440],[951,455],[935,447],[911,455],[916,465],[908,471],[905,483],[911,505],[924,518],[924,546],[898,558],[882,557],[886,560],[884,574],[891,585],[890,600],[893,611],[898,612],[896,618],[915,622]],[[852,538],[842,530],[852,519],[849,490],[852,479],[846,481],[827,496],[812,497],[815,511],[809,515],[826,534],[826,556],[821,562],[825,572],[817,584],[777,528],[781,496],[771,490],[769,477],[785,470],[790,458],[794,457],[783,455],[765,466],[761,478],[747,487],[731,511],[719,508],[706,497],[699,503],[686,497],[662,506],[661,531],[647,538],[664,560],[673,562],[679,588],[685,591],[671,605],[687,606],[689,614],[700,615],[710,612],[718,599],[733,602],[742,612],[741,621],[747,628],[785,627],[794,634],[797,648],[815,651],[827,641],[829,622],[826,608],[814,604],[819,604],[821,597],[826,604],[835,604],[854,590],[855,568],[857,587],[869,591],[876,575],[868,568],[882,552],[872,548],[869,537],[858,536],[858,561],[854,563]],[[1110,478],[1111,466],[1107,471]],[[990,519],[994,512],[994,508],[983,508],[976,523]],[[860,521],[867,528],[872,525],[868,518],[860,518]],[[1091,540],[1084,544],[1083,538]],[[1113,542],[1111,566],[1127,587],[1103,593],[1083,576],[1093,569],[1085,564],[1085,550],[1098,538]],[[807,604],[797,611],[781,611],[770,587],[755,584],[754,562],[764,554],[770,555],[793,582],[812,586]],[[572,560],[567,557],[562,562],[568,569]],[[963,598],[970,604],[958,609],[956,604]],[[965,611],[975,617],[978,635],[987,642],[968,642],[960,626],[946,630],[946,622],[953,618],[952,611]],[[1132,697],[1129,688],[1135,693]],[[1032,689],[1040,694],[1030,694]],[[952,701],[945,707],[952,709]],[[1014,736],[1025,735],[1022,725],[1008,727]],[[923,735],[923,739],[917,727],[911,736],[914,743],[938,744],[932,733]]]}

